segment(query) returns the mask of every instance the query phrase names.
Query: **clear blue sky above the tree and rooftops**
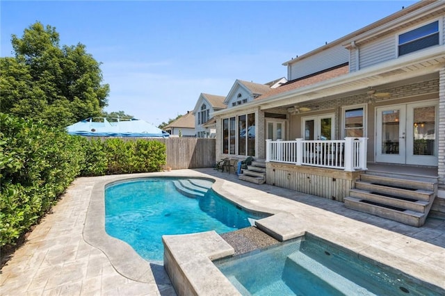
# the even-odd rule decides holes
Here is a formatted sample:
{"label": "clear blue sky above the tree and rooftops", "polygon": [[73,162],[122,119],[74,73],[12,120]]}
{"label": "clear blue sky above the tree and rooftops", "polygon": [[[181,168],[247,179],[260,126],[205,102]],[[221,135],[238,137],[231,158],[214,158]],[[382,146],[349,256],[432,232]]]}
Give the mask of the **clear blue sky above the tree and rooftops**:
{"label": "clear blue sky above the tree and rooftops", "polygon": [[4,1],[0,55],[36,21],[60,45],[82,43],[102,63],[106,111],[156,126],[193,110],[201,92],[236,79],[266,83],[282,63],[416,1]]}

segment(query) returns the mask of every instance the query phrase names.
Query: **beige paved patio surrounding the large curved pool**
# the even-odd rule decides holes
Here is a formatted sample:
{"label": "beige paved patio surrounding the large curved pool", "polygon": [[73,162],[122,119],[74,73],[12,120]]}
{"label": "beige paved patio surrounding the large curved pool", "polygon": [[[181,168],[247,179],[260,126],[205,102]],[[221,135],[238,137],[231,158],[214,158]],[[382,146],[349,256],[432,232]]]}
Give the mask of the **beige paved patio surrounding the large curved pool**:
{"label": "beige paved patio surrounding the large curved pool", "polygon": [[[272,213],[300,214],[306,222],[316,219],[318,223],[324,223],[318,225],[318,229],[332,227],[332,231],[382,251],[397,251],[412,263],[410,269],[416,270],[419,265],[422,270],[430,272],[422,277],[430,277],[435,284],[445,287],[444,220],[428,218],[424,227],[410,227],[350,210],[341,202],[239,181],[236,174],[216,172],[211,168],[131,176],[176,175],[216,179],[217,191],[227,192],[240,201],[244,199],[255,206],[254,200],[257,200],[261,205],[256,206],[270,207]],[[0,294],[175,295],[162,265],[147,263],[120,240],[104,237],[104,217],[94,212],[92,205],[103,199],[98,188],[103,190],[104,183],[120,177],[76,179],[52,213],[44,217],[26,243],[3,266]],[[336,227],[340,229],[335,230]],[[102,229],[102,232],[94,232],[96,229]]]}

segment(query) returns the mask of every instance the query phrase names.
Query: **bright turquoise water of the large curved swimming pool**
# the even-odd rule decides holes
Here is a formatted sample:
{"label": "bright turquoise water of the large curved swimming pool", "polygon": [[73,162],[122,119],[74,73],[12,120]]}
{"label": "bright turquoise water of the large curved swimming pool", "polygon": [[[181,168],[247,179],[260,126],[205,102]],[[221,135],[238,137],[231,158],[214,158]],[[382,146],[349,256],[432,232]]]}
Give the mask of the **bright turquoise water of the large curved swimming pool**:
{"label": "bright turquoise water of the large curved swimming pool", "polygon": [[[179,193],[178,182],[192,179],[136,179],[105,188],[105,230],[124,240],[147,261],[163,261],[161,237],[170,234],[215,230],[225,233],[249,227],[250,213],[211,190],[211,181],[196,179],[188,196]],[[203,196],[201,196],[203,195]]]}

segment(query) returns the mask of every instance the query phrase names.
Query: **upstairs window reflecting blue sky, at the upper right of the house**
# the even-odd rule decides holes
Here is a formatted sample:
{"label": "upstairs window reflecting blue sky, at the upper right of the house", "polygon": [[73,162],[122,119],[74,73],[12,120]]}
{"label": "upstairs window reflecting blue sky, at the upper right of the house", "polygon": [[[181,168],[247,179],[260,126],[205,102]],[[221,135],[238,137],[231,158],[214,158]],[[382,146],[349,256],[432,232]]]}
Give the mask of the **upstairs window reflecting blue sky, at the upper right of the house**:
{"label": "upstairs window reflecting blue sky, at the upper right of the house", "polygon": [[439,44],[439,21],[398,35],[398,56]]}

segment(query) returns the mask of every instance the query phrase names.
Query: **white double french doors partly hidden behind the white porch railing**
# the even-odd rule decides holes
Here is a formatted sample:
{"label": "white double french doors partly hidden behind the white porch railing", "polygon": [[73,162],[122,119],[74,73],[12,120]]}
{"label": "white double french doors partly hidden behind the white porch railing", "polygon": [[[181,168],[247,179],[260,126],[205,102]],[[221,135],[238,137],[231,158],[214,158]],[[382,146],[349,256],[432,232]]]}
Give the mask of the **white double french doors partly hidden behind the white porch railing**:
{"label": "white double french doors partly hidden behind the white porch railing", "polygon": [[334,114],[302,117],[302,135],[305,140],[333,140]]}

